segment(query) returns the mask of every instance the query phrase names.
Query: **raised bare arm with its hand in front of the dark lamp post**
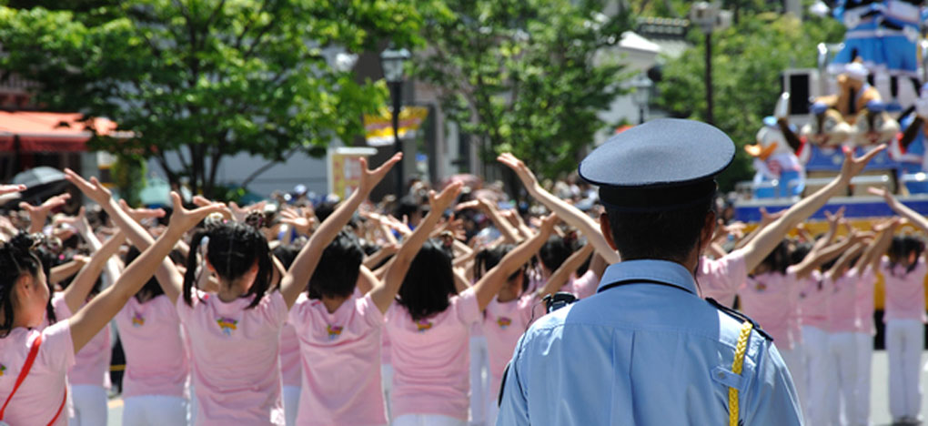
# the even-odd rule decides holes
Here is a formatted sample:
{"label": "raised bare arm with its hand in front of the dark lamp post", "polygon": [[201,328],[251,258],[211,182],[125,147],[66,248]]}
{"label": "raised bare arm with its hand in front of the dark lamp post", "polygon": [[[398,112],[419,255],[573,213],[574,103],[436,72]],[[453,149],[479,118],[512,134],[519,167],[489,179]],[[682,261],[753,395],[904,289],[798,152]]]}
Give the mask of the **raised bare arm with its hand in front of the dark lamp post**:
{"label": "raised bare arm with its hand in front of the dark lamp post", "polygon": [[403,154],[397,153],[393,155],[393,158],[384,162],[380,167],[374,170],[367,170],[367,160],[364,158],[361,159],[361,185],[358,186],[357,190],[355,190],[347,200],[342,202],[342,204],[335,209],[335,212],[329,214],[329,217],[316,228],[316,232],[313,232],[313,236],[309,238],[309,242],[303,246],[303,249],[297,254],[296,259],[293,259],[293,265],[290,265],[287,274],[280,280],[280,293],[283,295],[284,301],[287,302],[287,307],[296,303],[297,296],[306,288],[306,283],[309,282],[309,278],[312,277],[313,272],[316,271],[316,265],[319,265],[319,258],[322,257],[322,252],[326,250],[326,247],[329,247],[329,244],[339,235],[342,228],[348,225],[351,216],[357,210],[358,206],[360,206],[364,200],[367,200],[370,191],[373,190],[380,180],[383,179],[383,176],[393,168],[393,164],[400,161],[402,158]]}

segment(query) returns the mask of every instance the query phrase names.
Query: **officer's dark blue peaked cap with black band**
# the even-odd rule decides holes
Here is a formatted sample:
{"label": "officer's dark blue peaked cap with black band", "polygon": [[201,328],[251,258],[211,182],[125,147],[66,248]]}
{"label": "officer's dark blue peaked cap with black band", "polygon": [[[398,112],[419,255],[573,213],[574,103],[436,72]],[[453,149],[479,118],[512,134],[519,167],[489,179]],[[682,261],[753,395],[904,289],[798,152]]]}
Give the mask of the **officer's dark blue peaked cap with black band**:
{"label": "officer's dark blue peaked cap with black band", "polygon": [[660,119],[612,136],[580,163],[599,200],[625,212],[662,212],[715,194],[715,175],[731,164],[735,144],[714,126]]}

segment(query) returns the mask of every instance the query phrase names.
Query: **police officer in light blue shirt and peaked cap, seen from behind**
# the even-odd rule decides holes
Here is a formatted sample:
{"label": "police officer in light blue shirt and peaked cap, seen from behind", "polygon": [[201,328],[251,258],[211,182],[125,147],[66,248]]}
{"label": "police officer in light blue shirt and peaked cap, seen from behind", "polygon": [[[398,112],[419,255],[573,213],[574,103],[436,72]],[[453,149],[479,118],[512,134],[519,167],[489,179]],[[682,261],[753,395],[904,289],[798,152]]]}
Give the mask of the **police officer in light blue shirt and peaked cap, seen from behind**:
{"label": "police officer in light blue shirt and peaked cap, seen from behind", "polygon": [[[877,148],[879,151],[882,148]],[[516,347],[497,425],[802,424],[793,381],[749,318],[698,296],[731,139],[688,120],[613,136],[580,164],[623,262],[598,293],[539,319]],[[847,185],[870,157],[845,158]]]}

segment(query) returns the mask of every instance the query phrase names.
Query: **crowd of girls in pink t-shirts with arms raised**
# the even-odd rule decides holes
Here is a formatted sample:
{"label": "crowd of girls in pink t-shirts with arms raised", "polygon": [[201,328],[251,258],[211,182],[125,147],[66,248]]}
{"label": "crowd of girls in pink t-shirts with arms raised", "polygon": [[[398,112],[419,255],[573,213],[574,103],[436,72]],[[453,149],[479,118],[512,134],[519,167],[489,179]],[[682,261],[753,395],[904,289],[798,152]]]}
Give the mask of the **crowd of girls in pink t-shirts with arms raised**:
{"label": "crowd of girls in pink t-shirts with arms raised", "polygon": [[[414,190],[427,207],[401,202],[397,219],[367,197],[398,160],[365,166],[337,205],[283,206],[272,220],[264,203],[185,207],[176,194],[170,214],[133,209],[67,171],[99,205],[95,225],[84,211],[50,215],[65,196],[0,220],[3,420],[106,424],[113,320],[125,425],[495,424],[505,366],[542,299],[592,296],[619,256],[596,208],[577,207],[594,191],[554,195],[509,154],[499,161],[538,207],[510,211],[501,192],[455,182]],[[825,235],[785,239],[846,190],[850,162],[747,235],[720,223],[697,281],[773,337],[809,424],[868,424],[882,275],[890,411],[915,420],[928,265],[921,239],[896,234],[906,222],[928,232],[928,220],[876,191],[900,217],[861,231],[838,211]]]}

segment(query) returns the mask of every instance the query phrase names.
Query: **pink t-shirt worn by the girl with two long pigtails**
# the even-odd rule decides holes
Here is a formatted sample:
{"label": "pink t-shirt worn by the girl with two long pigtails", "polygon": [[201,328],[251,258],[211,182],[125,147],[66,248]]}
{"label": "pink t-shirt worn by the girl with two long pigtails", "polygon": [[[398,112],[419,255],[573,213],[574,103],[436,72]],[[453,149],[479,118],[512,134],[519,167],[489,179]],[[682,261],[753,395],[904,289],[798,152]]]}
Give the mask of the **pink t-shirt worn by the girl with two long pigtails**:
{"label": "pink t-shirt worn by the girl with two long pigtails", "polygon": [[191,378],[199,425],[282,425],[280,329],[287,303],[279,291],[225,303],[196,290],[193,306],[177,298],[177,314],[189,337]]}

